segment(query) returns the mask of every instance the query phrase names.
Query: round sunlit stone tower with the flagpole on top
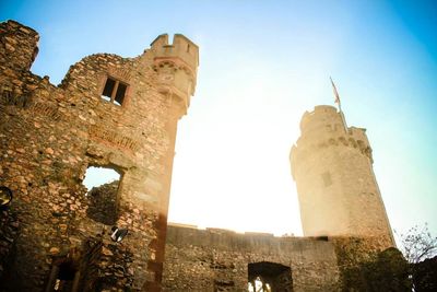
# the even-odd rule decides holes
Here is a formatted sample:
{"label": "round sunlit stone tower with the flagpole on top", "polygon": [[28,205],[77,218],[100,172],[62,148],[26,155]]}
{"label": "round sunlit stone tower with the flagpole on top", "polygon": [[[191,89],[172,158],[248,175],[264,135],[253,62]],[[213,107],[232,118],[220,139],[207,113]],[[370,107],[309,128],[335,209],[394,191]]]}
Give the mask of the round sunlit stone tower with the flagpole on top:
{"label": "round sunlit stone tower with the flagpole on top", "polygon": [[394,244],[366,130],[321,105],[304,114],[300,132],[290,159],[304,235],[387,236]]}

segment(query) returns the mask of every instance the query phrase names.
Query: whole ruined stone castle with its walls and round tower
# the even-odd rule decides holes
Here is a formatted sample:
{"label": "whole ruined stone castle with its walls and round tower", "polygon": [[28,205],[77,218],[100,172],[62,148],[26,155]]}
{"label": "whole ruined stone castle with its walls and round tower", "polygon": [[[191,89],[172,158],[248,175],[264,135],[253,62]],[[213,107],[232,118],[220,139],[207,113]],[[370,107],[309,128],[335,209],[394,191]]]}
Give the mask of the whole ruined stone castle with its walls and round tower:
{"label": "whole ruined stone castle with its walls and round tower", "polygon": [[[307,237],[167,226],[198,46],[161,35],[134,58],[85,57],[55,86],[29,71],[38,38],[0,24],[0,186],[13,194],[0,291],[247,291],[257,280],[339,291],[351,267],[394,245],[365,130],[330,106],[304,115],[291,153]],[[86,195],[91,166],[120,174],[107,197]]]}

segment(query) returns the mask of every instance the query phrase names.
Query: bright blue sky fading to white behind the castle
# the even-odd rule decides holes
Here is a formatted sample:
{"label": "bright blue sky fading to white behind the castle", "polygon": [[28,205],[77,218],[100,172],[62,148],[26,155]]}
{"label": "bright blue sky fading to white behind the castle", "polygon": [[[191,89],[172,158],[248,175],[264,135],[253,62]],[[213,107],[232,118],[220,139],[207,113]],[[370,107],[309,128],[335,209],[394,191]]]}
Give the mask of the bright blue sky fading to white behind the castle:
{"label": "bright blue sky fading to white behind the castle", "polygon": [[200,46],[179,122],[169,220],[300,234],[288,152],[305,110],[367,128],[392,227],[437,233],[435,1],[1,1],[40,34],[32,70],[57,84],[94,52],[140,55],[162,33]]}

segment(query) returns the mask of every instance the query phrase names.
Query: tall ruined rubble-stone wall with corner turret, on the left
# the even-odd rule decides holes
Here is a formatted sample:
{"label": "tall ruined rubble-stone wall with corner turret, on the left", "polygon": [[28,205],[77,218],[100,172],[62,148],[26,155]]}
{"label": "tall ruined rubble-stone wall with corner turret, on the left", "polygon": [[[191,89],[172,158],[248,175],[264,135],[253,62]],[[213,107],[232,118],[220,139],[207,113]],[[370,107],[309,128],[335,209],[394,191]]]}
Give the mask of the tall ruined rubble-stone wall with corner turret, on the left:
{"label": "tall ruined rubble-stone wall with corner turret, on the left", "polygon": [[[162,35],[135,58],[85,57],[55,86],[29,71],[37,40],[20,23],[0,24],[0,186],[13,191],[0,213],[0,290],[157,291],[176,126],[194,90],[198,47]],[[118,85],[107,101],[109,79]],[[122,243],[90,217],[90,166],[121,175]]]}

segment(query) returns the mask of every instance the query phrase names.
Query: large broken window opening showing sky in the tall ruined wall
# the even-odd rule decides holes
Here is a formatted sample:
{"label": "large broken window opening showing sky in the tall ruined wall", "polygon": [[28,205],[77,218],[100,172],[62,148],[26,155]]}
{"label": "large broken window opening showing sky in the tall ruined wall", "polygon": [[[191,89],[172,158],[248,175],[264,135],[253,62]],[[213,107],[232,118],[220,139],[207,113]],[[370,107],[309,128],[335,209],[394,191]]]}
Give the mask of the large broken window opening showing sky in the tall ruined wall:
{"label": "large broken window opening showing sky in the tall ruined wall", "polygon": [[114,168],[91,166],[86,170],[83,184],[90,200],[86,215],[106,225],[115,225],[118,219],[118,191],[120,174]]}

